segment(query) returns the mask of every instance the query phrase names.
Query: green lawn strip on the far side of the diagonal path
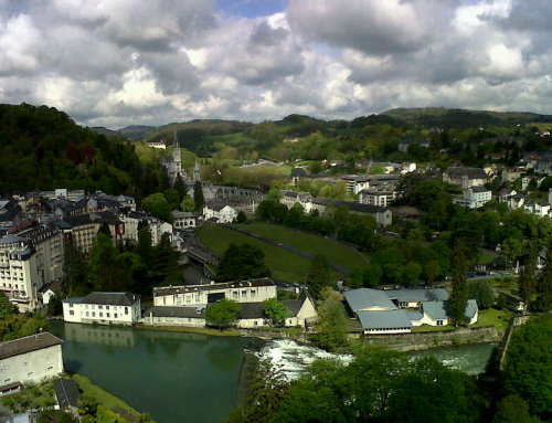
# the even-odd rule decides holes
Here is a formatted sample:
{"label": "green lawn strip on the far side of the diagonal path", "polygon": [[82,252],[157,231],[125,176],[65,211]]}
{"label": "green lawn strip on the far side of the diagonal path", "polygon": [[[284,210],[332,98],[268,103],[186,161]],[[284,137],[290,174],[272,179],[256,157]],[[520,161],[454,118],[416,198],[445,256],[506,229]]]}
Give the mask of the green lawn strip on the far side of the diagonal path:
{"label": "green lawn strip on the far side of the diagonal path", "polygon": [[236,226],[245,231],[258,233],[259,235],[276,242],[282,242],[295,248],[306,251],[307,253],[322,254],[329,261],[349,268],[367,266],[367,263],[357,252],[336,241],[327,240],[323,236],[297,232],[289,228],[262,222],[236,224]]}

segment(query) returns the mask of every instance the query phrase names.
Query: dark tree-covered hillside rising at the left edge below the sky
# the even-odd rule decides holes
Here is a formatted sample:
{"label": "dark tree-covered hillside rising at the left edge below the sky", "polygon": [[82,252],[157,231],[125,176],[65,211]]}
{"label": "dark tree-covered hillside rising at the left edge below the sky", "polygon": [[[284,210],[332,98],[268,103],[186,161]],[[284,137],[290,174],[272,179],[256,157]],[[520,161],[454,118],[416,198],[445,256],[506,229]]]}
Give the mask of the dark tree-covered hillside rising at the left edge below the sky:
{"label": "dark tree-covered hillside rising at the left edge below the sky", "polygon": [[0,105],[0,192],[59,187],[135,193],[131,145],[82,128],[55,108]]}

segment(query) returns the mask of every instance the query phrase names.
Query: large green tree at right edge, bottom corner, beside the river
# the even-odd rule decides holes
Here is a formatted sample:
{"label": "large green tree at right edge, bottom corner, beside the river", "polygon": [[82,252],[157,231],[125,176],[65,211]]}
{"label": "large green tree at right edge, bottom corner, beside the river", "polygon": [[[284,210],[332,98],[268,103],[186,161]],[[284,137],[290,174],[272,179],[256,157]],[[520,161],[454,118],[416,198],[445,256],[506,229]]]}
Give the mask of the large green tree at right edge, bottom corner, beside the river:
{"label": "large green tree at right edge, bottom corner, beside the river", "polygon": [[529,320],[511,337],[505,387],[527,402],[532,414],[552,413],[552,316]]}

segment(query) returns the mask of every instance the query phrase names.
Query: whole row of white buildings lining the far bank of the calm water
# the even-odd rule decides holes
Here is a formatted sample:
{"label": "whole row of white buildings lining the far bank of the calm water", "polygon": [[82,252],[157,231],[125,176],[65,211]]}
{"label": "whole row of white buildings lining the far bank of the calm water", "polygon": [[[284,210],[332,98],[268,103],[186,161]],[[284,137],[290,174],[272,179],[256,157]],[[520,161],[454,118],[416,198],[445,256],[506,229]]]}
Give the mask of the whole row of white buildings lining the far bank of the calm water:
{"label": "whole row of white buildings lining the far bank of the calm water", "polygon": [[[86,297],[63,300],[63,318],[68,322],[205,327],[206,309],[226,298],[240,305],[238,328],[270,325],[264,302],[277,298],[277,287],[269,278],[181,285],[153,288],[153,305],[141,309],[140,296],[129,293],[92,293]],[[297,299],[282,302],[287,309],[283,324],[302,326],[317,318],[311,297],[301,290]]]}

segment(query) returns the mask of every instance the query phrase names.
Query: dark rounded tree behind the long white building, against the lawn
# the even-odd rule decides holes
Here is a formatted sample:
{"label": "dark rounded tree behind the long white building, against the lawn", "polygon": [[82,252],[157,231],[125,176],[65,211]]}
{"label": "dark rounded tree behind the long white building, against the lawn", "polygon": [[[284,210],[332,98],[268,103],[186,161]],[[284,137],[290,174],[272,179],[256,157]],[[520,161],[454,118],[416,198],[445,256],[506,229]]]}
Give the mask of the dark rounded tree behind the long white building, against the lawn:
{"label": "dark rounded tree behind the long white building, against the lawn", "polygon": [[269,277],[270,269],[266,266],[265,254],[248,243],[230,244],[219,263],[215,281],[246,281]]}

